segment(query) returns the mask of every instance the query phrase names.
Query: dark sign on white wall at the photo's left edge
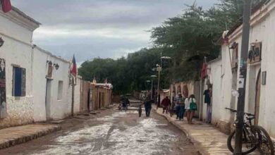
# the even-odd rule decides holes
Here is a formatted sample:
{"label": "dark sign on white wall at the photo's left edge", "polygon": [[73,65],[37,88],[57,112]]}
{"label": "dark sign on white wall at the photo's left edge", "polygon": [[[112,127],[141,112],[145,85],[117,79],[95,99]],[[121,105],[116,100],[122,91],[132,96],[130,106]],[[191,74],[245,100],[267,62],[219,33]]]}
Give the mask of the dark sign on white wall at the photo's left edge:
{"label": "dark sign on white wall at the photo's left edge", "polygon": [[0,118],[6,116],[6,61],[0,58]]}

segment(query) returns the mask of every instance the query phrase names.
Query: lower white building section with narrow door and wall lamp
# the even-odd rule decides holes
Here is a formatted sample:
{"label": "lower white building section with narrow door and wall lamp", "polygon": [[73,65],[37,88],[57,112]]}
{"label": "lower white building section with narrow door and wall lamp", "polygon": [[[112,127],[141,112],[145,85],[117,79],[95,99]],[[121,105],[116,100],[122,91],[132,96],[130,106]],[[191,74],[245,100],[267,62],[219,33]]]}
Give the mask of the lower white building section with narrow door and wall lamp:
{"label": "lower white building section with narrow door and wall lamp", "polygon": [[[32,63],[35,121],[71,115],[70,62],[34,45]],[[52,68],[51,75],[49,68]]]}

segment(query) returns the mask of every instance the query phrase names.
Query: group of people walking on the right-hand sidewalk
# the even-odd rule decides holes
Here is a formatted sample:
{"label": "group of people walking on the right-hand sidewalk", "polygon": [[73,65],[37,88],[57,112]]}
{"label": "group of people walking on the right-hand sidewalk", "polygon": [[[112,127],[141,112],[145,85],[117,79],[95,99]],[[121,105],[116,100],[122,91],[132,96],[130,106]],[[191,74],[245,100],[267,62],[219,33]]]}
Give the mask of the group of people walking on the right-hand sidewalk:
{"label": "group of people walking on the right-hand sidewalk", "polygon": [[183,97],[181,93],[178,93],[173,100],[173,104],[171,104],[169,97],[166,97],[161,101],[161,106],[163,107],[163,113],[168,113],[169,109],[170,113],[174,113],[176,110],[177,120],[183,120],[184,114],[186,113],[188,123],[193,124],[193,116],[195,111],[197,111],[197,103],[194,94],[191,94],[190,97]]}

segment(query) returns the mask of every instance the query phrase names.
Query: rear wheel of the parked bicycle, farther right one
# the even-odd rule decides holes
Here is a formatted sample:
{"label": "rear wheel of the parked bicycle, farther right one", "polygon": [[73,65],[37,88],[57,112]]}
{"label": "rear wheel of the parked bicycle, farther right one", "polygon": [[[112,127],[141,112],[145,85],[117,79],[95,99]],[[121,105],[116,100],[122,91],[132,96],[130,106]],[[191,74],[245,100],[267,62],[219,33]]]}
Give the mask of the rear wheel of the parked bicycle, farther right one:
{"label": "rear wheel of the parked bicycle, farther right one", "polygon": [[252,125],[252,130],[257,133],[257,148],[260,154],[274,155],[274,143],[272,142],[267,130],[259,125]]}

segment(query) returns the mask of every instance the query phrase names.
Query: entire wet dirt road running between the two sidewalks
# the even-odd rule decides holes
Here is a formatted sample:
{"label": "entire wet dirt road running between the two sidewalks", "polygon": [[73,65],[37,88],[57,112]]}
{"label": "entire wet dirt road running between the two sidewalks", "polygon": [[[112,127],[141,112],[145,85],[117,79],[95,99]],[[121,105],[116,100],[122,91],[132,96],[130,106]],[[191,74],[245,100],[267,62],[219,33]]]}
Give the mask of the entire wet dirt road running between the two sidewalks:
{"label": "entire wet dirt road running between the two sidewalks", "polygon": [[111,111],[107,116],[82,121],[0,154],[198,154],[183,132],[152,113]]}

